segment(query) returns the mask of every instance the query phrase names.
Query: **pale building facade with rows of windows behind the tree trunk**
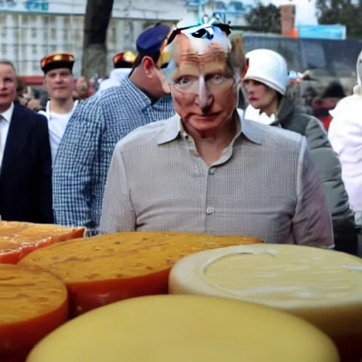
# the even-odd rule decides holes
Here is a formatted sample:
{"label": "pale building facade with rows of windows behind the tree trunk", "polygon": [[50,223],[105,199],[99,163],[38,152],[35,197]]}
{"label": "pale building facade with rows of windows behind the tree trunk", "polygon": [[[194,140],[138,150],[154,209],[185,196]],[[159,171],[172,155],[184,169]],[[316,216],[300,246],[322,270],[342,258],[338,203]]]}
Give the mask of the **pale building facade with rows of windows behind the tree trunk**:
{"label": "pale building facade with rows of windows behind the tree trunk", "polygon": [[[21,76],[42,75],[40,59],[52,52],[76,57],[81,75],[86,0],[0,0],[0,59],[13,62]],[[185,16],[183,0],[115,0],[107,33],[108,63],[125,49],[135,51],[136,37],[152,23]]]}

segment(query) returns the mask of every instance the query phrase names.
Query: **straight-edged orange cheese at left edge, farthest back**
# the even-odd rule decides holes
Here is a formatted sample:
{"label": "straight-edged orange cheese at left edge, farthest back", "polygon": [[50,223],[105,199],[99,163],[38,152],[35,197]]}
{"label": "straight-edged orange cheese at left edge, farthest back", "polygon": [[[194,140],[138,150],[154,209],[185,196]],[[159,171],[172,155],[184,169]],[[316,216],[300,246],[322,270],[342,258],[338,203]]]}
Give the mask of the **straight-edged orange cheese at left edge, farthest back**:
{"label": "straight-edged orange cheese at left edge, farthest back", "polygon": [[40,247],[82,238],[84,228],[0,221],[0,264],[16,264]]}

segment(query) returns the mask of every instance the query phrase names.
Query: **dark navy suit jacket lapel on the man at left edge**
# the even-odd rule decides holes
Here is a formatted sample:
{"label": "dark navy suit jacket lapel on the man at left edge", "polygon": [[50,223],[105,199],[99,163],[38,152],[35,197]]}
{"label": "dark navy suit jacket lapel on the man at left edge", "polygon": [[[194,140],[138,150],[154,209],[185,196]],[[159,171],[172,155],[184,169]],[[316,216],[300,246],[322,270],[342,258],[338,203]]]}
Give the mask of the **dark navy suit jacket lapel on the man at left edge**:
{"label": "dark navy suit jacket lapel on the man at left edge", "polygon": [[23,112],[21,105],[15,104],[13,117],[11,117],[10,126],[8,128],[8,136],[6,138],[4,157],[1,164],[1,176],[4,175],[18,153],[25,147],[28,136],[27,130],[26,112]]}

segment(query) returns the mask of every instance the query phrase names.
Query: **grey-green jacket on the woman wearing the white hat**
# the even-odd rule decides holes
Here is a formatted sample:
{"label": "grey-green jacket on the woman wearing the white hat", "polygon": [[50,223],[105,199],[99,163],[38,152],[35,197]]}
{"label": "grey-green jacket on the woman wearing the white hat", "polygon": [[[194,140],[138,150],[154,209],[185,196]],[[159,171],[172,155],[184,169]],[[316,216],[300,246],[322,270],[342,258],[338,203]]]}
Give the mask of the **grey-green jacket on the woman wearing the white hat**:
{"label": "grey-green jacket on the woman wearing the white hat", "polygon": [[276,123],[284,129],[298,132],[306,137],[325,187],[333,222],[335,249],[356,255],[357,235],[354,214],[349,207],[348,194],[341,178],[341,163],[329,144],[322,123],[313,116],[298,112],[293,100],[286,97],[281,101]]}

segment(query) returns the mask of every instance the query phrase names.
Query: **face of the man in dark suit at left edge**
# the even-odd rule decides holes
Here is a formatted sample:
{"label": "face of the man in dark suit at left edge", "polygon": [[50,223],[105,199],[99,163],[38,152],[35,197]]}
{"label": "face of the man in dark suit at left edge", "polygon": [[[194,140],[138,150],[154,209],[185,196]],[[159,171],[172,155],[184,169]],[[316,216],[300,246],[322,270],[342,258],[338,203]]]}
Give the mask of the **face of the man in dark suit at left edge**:
{"label": "face of the man in dark suit at left edge", "polygon": [[0,112],[4,112],[16,98],[16,74],[9,64],[0,63]]}

